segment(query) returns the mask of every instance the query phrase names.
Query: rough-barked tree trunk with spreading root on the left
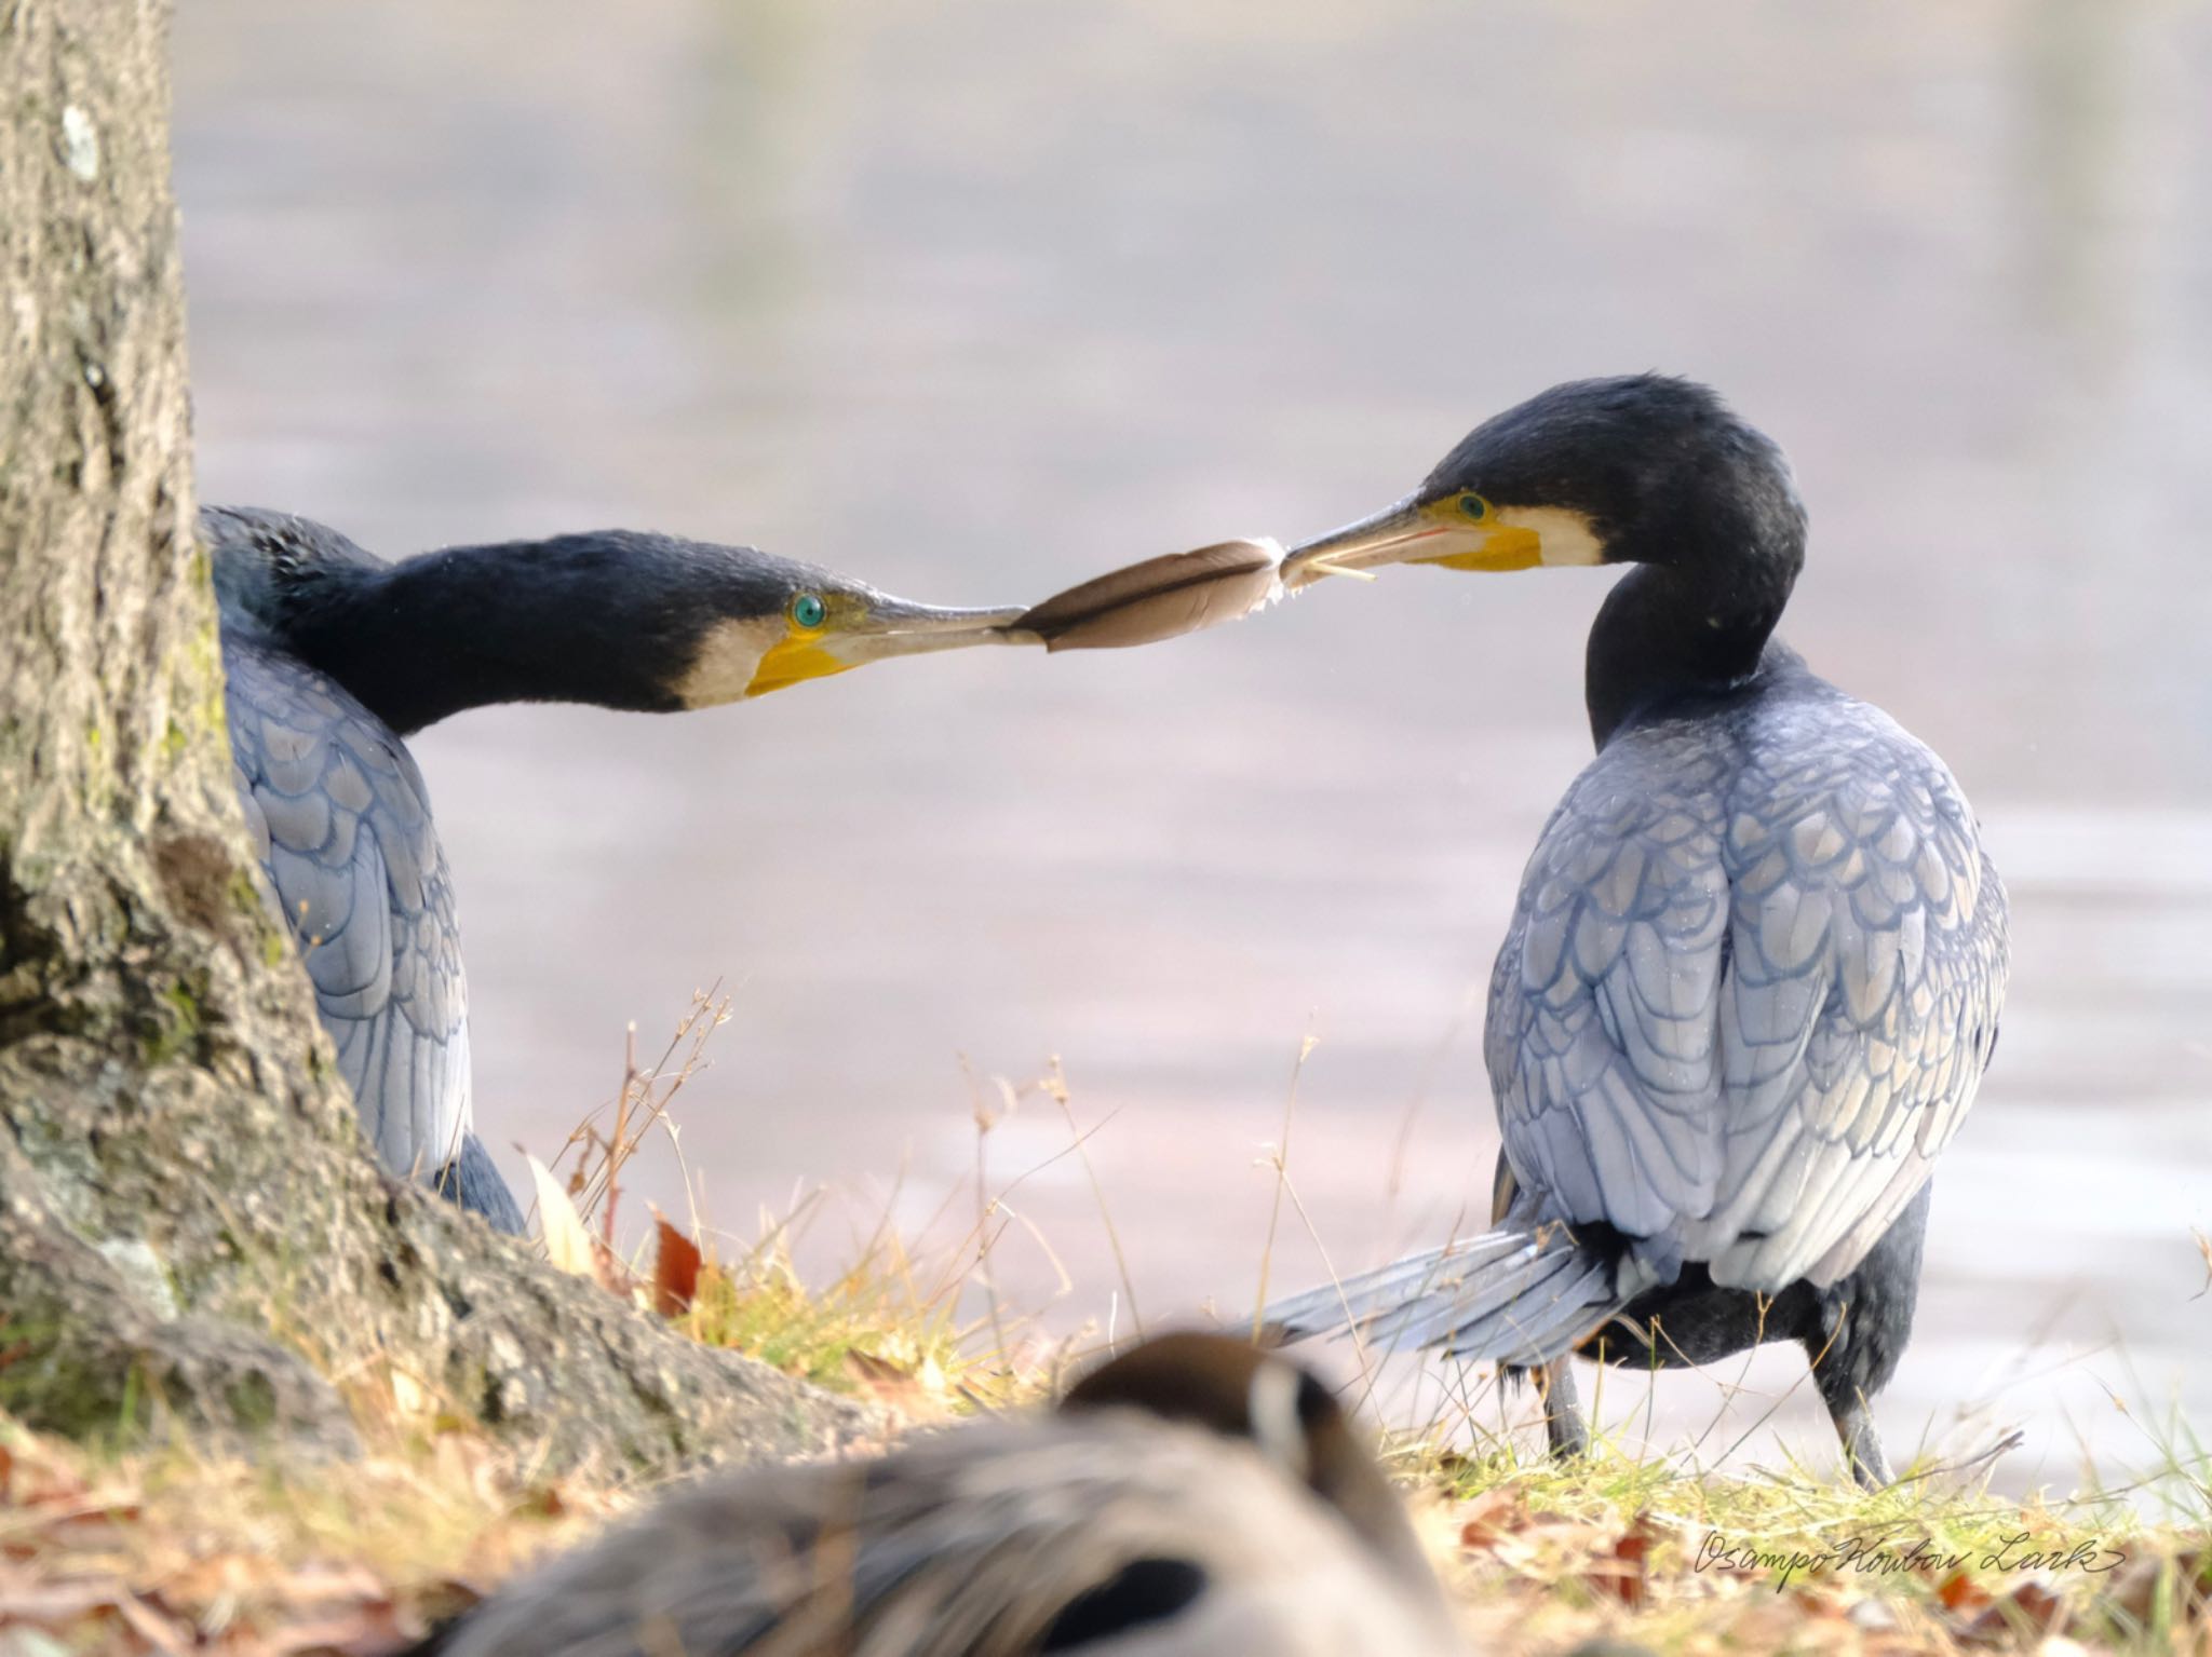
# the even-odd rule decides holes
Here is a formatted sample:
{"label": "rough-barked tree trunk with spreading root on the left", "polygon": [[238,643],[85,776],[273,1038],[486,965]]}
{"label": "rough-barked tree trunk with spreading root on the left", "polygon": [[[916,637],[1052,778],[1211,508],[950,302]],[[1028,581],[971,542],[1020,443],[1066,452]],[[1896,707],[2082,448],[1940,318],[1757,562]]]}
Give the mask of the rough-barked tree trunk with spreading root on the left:
{"label": "rough-barked tree trunk with spreading root on the left", "polygon": [[0,1403],[343,1452],[425,1396],[646,1471],[869,1432],[363,1147],[232,798],[166,24],[0,0]]}

